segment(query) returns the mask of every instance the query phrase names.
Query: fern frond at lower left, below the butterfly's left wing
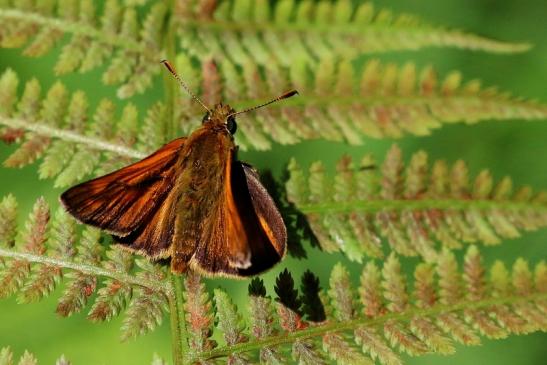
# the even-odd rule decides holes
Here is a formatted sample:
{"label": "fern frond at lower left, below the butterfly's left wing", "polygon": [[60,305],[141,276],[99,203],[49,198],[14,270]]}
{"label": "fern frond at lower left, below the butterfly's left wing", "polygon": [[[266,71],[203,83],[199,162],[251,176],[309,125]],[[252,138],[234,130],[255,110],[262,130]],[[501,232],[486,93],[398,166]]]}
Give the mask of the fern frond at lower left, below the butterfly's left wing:
{"label": "fern frond at lower left, below the butterfly's left wing", "polygon": [[[138,261],[139,269],[134,270],[133,256],[119,248],[103,257],[98,230],[86,228],[80,237],[75,221],[62,208],[49,222],[43,198],[37,200],[24,232],[14,240],[15,207],[11,195],[0,202],[0,297],[18,294],[21,302],[37,301],[65,280],[57,306],[63,316],[81,311],[96,293],[90,320],[110,320],[127,308],[122,339],[161,323],[171,296],[163,269]],[[105,278],[102,286],[97,284],[99,277]]]}

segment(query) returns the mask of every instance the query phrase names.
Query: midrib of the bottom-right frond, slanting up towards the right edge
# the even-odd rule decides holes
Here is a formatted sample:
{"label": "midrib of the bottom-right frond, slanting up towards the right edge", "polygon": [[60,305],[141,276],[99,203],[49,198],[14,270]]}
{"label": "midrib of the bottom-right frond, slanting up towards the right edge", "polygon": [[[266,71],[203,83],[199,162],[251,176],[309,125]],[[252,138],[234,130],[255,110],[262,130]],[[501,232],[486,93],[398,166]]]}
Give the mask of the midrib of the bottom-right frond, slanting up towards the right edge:
{"label": "midrib of the bottom-right frond, slanting up towards the right edge", "polygon": [[427,309],[412,308],[410,310],[399,312],[399,313],[389,313],[381,317],[369,318],[362,317],[354,319],[351,321],[342,321],[334,323],[326,323],[323,325],[308,327],[306,329],[283,333],[281,335],[271,336],[263,339],[256,339],[250,342],[238,343],[231,346],[219,347],[210,351],[204,351],[199,354],[196,354],[190,358],[189,363],[195,363],[199,360],[206,360],[211,358],[223,357],[228,355],[233,355],[235,353],[248,352],[253,350],[258,350],[263,347],[270,346],[279,346],[283,344],[294,343],[298,339],[306,339],[310,337],[317,337],[323,335],[327,332],[340,332],[354,330],[360,326],[373,327],[380,326],[389,320],[395,321],[409,321],[414,317],[432,317],[442,313],[450,313],[463,311],[468,309],[481,309],[484,307],[490,307],[494,305],[503,305],[503,304],[516,304],[519,302],[526,303],[530,301],[539,301],[546,300],[547,293],[535,293],[526,296],[519,294],[500,297],[500,298],[489,298],[479,301],[465,301],[454,305],[436,305]]}

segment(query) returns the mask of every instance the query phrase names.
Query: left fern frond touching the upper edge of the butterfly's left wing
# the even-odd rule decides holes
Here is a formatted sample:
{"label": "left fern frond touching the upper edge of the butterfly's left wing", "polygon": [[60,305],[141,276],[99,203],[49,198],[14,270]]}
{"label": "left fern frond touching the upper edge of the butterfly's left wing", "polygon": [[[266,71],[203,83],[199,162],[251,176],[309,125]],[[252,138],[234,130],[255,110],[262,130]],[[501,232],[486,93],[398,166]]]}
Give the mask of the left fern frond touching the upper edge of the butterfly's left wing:
{"label": "left fern frond touching the upper edge of the butterfly's left wing", "polygon": [[111,101],[103,99],[90,113],[85,94],[76,91],[68,95],[60,83],[42,99],[40,85],[31,80],[17,98],[16,79],[11,70],[0,78],[0,124],[8,132],[23,132],[17,140],[20,146],[6,159],[6,166],[21,167],[43,158],[40,178],[55,177],[55,186],[65,187],[93,172],[110,172],[143,158],[166,142],[160,104],[150,109],[143,131],[138,133],[138,114],[132,104],[125,106],[117,120]]}

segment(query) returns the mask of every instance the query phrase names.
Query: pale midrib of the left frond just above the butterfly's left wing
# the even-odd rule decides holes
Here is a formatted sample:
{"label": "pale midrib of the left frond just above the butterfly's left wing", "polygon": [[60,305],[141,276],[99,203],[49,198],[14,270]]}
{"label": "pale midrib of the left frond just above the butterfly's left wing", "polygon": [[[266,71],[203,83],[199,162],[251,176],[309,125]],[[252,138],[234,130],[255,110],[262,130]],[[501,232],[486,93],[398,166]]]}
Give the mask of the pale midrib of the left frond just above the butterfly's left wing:
{"label": "pale midrib of the left frond just above the butterfly's left wing", "polygon": [[92,149],[114,152],[121,156],[142,159],[146,154],[137,150],[120,146],[118,144],[101,141],[100,139],[87,137],[80,133],[53,128],[45,124],[29,123],[23,119],[17,118],[0,118],[0,124],[6,125],[15,129],[24,129],[29,132],[37,133],[44,137],[58,138],[66,142],[73,142],[86,145]]}

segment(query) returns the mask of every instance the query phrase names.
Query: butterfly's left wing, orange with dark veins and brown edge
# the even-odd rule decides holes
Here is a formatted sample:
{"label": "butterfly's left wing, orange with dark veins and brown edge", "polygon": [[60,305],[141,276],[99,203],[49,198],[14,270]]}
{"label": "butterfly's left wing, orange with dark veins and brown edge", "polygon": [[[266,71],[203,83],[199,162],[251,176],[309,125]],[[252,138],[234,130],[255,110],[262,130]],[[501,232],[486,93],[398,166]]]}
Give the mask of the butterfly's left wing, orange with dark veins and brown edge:
{"label": "butterfly's left wing, orange with dark veins and brown edge", "polygon": [[145,224],[172,188],[185,140],[175,139],[141,161],[68,189],[61,203],[82,223],[127,236]]}

